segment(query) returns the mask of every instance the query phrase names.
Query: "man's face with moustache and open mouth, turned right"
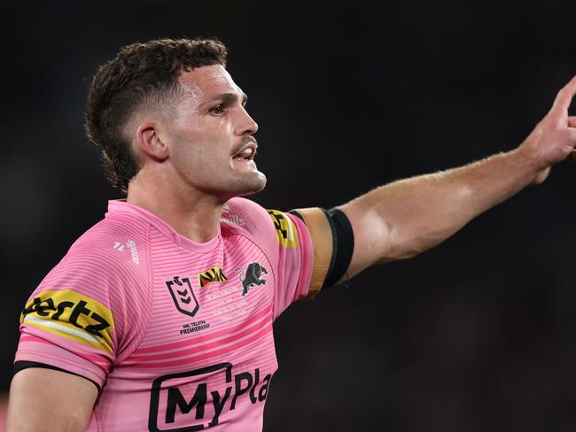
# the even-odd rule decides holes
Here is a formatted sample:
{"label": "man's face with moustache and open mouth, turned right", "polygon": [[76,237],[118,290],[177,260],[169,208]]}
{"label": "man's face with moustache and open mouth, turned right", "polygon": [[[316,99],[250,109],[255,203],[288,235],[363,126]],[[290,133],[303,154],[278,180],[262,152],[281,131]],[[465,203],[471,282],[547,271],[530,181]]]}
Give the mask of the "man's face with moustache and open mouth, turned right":
{"label": "man's face with moustache and open mouth, turned right", "polygon": [[179,179],[222,200],[264,189],[266,176],[253,161],[258,125],[230,74],[220,65],[203,66],[182,73],[179,82],[183,96],[164,131]]}

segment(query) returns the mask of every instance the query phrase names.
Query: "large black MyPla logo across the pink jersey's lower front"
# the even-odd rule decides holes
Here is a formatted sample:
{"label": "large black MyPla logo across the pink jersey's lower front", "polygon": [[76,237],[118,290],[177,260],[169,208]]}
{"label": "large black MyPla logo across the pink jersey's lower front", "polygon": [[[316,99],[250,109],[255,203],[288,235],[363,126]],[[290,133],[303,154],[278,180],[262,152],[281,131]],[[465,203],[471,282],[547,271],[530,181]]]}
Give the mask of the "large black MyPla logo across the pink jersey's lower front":
{"label": "large black MyPla logo across the pink jersey's lower front", "polygon": [[[189,431],[216,426],[223,412],[234,411],[238,398],[251,404],[266,399],[272,374],[261,380],[260,368],[233,373],[231,363],[160,376],[152,383],[148,428],[152,432]],[[211,388],[216,374],[224,374],[224,388]],[[202,375],[206,378],[202,379]],[[161,409],[166,408],[165,413]]]}

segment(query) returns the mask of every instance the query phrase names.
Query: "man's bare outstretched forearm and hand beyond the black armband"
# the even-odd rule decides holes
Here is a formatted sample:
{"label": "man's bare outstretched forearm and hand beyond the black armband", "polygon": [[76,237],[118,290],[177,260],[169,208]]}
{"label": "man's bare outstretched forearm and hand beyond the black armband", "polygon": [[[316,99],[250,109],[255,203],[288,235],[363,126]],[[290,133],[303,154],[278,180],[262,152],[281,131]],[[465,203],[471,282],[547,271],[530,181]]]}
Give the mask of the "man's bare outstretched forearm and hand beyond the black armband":
{"label": "man's bare outstretched forearm and hand beyond the black armband", "polygon": [[448,171],[381,186],[340,206],[354,231],[354,253],[344,276],[394,259],[413,257],[453,235],[468,221],[540,183],[550,166],[572,158],[576,117],[568,115],[576,77],[516,150]]}

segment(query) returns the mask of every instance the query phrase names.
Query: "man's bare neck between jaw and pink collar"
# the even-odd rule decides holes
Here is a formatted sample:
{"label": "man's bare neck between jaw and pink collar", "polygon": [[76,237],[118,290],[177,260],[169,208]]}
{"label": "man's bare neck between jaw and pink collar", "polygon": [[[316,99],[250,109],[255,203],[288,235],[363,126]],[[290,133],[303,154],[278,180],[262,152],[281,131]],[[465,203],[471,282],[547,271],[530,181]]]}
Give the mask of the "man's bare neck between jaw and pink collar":
{"label": "man's bare neck between jaw and pink collar", "polygon": [[130,181],[126,201],[152,212],[192,242],[205,243],[218,234],[223,202],[206,194],[161,182]]}

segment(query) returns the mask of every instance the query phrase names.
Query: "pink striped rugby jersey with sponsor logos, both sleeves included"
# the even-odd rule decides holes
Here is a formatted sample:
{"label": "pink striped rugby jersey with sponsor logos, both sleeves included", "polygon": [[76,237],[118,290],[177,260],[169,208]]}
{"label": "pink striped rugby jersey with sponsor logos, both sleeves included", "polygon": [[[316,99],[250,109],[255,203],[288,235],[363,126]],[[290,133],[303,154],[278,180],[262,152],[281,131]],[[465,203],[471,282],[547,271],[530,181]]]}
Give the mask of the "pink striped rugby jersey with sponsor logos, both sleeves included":
{"label": "pink striped rugby jersey with sponsor logos, both sleeves included", "polygon": [[259,431],[272,322],[307,295],[313,259],[299,218],[247,199],[206,243],[111,201],[28,300],[16,361],[95,382],[90,431]]}

